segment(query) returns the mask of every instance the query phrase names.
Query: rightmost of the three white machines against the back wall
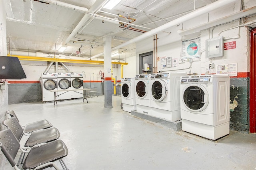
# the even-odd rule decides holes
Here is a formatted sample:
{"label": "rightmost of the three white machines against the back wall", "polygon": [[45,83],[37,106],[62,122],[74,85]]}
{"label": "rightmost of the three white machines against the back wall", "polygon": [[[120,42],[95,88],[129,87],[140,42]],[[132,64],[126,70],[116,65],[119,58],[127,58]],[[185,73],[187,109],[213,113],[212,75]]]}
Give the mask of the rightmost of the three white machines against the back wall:
{"label": "rightmost of the three white machines against the back wall", "polygon": [[[77,90],[82,89],[84,81],[83,81],[83,73],[72,72],[71,73],[71,89]],[[84,94],[82,90],[79,91],[71,91],[71,98],[83,98]]]}

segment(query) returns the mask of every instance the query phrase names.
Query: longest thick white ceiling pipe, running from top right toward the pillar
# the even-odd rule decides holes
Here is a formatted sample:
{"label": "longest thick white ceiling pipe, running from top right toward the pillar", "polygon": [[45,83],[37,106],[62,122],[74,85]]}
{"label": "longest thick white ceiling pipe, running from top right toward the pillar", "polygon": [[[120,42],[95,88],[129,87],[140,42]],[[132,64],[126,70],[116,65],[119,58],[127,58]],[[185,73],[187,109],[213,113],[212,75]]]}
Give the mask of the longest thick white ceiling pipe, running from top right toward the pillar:
{"label": "longest thick white ceiling pipe, running from top right toward the pillar", "polygon": [[[170,27],[173,27],[173,26],[175,26],[175,25],[178,25],[178,24],[180,24],[180,23],[182,23],[182,22],[184,22],[184,21],[193,19],[193,18],[198,17],[198,16],[200,16],[200,15],[202,15],[202,14],[208,13],[208,12],[210,12],[210,11],[216,10],[216,9],[218,9],[218,8],[221,8],[221,7],[223,7],[223,6],[226,6],[226,5],[228,5],[228,4],[231,4],[231,3],[233,3],[233,2],[236,2],[236,0],[218,0],[218,1],[216,1],[216,2],[213,2],[212,4],[209,4],[209,5],[207,5],[207,6],[204,6],[204,7],[200,8],[200,9],[198,9],[198,10],[195,10],[195,11],[189,13],[189,14],[186,14],[186,15],[184,15],[184,16],[181,16],[180,18],[177,18],[177,19],[175,19],[175,20],[173,20],[173,21],[170,21],[170,22],[168,22],[168,23],[166,23],[166,24],[164,24],[164,25],[161,25],[160,27],[157,27],[157,28],[155,28],[155,29],[152,29],[152,30],[150,30],[150,31],[148,31],[148,32],[146,32],[146,33],[144,33],[144,34],[142,34],[142,35],[136,37],[136,38],[133,38],[133,39],[131,39],[131,40],[129,40],[129,41],[126,41],[125,43],[122,43],[122,44],[120,44],[120,45],[118,45],[118,46],[112,48],[112,51],[114,51],[114,50],[116,50],[116,49],[119,49],[119,48],[122,48],[122,47],[124,47],[124,46],[126,46],[126,45],[129,45],[129,44],[131,44],[131,43],[136,43],[136,42],[138,42],[138,41],[141,41],[141,40],[143,40],[143,39],[146,39],[146,38],[148,38],[148,37],[150,37],[150,36],[152,36],[152,35],[154,35],[154,34],[156,34],[156,33],[159,33],[160,31],[163,31],[163,30],[165,30],[165,29],[168,29],[168,28],[170,28]],[[100,53],[100,54],[98,54],[98,55],[94,55],[94,56],[91,57],[91,59],[100,57],[100,56],[102,56],[102,55],[103,55],[103,53]]]}

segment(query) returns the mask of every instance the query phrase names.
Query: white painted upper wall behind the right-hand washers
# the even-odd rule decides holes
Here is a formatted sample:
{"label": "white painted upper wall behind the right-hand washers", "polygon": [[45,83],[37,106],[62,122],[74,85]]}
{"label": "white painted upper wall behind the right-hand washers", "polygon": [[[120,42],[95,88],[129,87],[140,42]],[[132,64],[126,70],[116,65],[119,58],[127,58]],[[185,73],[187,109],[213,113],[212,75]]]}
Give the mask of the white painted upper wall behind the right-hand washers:
{"label": "white painted upper wall behind the right-hand washers", "polygon": [[[256,6],[256,0],[245,1],[245,3],[247,3],[245,4],[246,8],[248,8],[248,6],[249,7]],[[181,23],[180,25],[171,27],[168,30],[157,33],[157,37],[158,37],[157,56],[172,57],[172,59],[177,58],[179,61],[181,56],[182,40],[200,36],[202,56],[199,61],[195,59],[193,60],[191,73],[195,72],[197,74],[204,74],[209,69],[209,63],[214,63],[215,66],[218,64],[238,63],[238,70],[237,70],[238,72],[249,72],[249,66],[248,66],[249,65],[249,47],[248,47],[249,31],[245,27],[237,28],[238,22],[239,22],[238,20],[215,27],[213,31],[212,31],[212,28],[203,29],[202,31],[200,31],[200,33],[196,33],[194,35],[186,35],[186,36],[180,36],[177,33],[177,30],[182,29],[182,27],[183,29],[189,29],[196,25],[206,23],[208,22],[208,20],[211,21],[214,19],[222,18],[226,15],[230,15],[234,12],[238,12],[238,9],[239,9],[239,3],[235,3],[234,5],[230,6],[229,10],[224,11],[222,9],[219,9],[218,11],[210,13],[209,19],[208,19],[208,14],[202,15],[199,18],[186,21],[184,23]],[[249,19],[250,21],[256,21],[256,17],[250,17]],[[232,27],[236,27],[236,28],[230,29]],[[223,31],[223,32],[220,33],[220,31]],[[218,37],[219,33],[220,33],[220,36],[223,36],[224,38],[234,37],[234,36],[237,36],[239,33],[240,38],[229,39],[224,41],[224,43],[236,41],[236,49],[225,50],[223,57],[208,59],[206,58],[206,53],[204,51],[206,48],[206,40],[209,39],[210,37]],[[142,53],[153,51],[153,45],[154,45],[153,35],[148,39],[144,39],[143,41],[136,43],[136,59],[135,59],[136,74],[139,73],[139,70],[138,70],[139,55]],[[180,63],[180,64],[178,63],[177,67],[173,67],[168,70],[169,71],[174,70],[174,72],[178,72],[178,71],[189,72],[190,69],[186,69],[189,66],[190,66],[190,63]],[[160,61],[157,62],[157,67],[158,67],[158,71],[160,71]],[[176,70],[176,69],[180,69],[180,70]],[[210,73],[216,73],[216,67],[211,69]]]}

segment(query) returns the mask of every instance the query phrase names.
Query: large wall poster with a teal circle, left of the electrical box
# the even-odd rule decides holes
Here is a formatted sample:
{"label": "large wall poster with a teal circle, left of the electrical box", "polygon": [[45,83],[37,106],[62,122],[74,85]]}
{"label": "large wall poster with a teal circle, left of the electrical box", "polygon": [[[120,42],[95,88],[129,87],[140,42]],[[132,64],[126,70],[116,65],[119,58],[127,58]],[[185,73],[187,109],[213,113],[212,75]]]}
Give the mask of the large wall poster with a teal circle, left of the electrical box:
{"label": "large wall poster with a teal circle, left of the electrical box", "polygon": [[181,60],[200,58],[201,39],[196,37],[182,41]]}

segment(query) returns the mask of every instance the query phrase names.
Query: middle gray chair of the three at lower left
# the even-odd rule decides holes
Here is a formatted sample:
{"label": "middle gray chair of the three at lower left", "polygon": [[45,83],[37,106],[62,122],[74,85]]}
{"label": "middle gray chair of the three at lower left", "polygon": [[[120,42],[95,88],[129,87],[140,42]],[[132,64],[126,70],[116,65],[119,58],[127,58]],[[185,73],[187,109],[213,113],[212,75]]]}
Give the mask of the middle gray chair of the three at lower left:
{"label": "middle gray chair of the three at lower left", "polygon": [[[20,141],[22,139],[23,135],[27,135],[24,133],[20,123],[17,121],[15,117],[11,117],[9,119],[6,119],[2,122],[4,126],[6,126],[8,129],[11,129],[12,132],[14,133],[16,139]],[[50,141],[54,141],[60,137],[60,132],[58,131],[57,128],[52,127],[48,129],[42,129],[38,131],[34,131],[29,134],[28,139],[26,140],[26,143],[24,144],[24,147],[22,149],[26,150],[29,149],[30,147],[33,147],[35,145],[41,144],[41,143],[47,143]],[[24,155],[22,155],[24,154]],[[23,162],[25,152],[20,154],[20,158],[18,160],[18,164]],[[23,158],[22,158],[23,156]],[[22,158],[22,160],[21,160]]]}

